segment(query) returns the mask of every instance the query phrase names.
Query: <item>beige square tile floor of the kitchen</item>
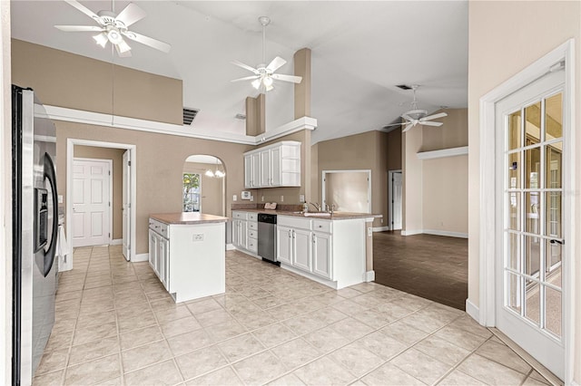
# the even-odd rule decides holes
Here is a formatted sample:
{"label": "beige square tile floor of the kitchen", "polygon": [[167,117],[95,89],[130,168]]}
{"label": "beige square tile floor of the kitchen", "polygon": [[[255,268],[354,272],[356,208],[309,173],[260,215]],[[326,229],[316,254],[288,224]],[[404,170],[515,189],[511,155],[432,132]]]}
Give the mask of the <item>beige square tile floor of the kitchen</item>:
{"label": "beige square tile floor of the kitchen", "polygon": [[229,251],[226,294],[174,304],[119,246],[74,250],[34,385],[543,385],[457,309],[340,291]]}

